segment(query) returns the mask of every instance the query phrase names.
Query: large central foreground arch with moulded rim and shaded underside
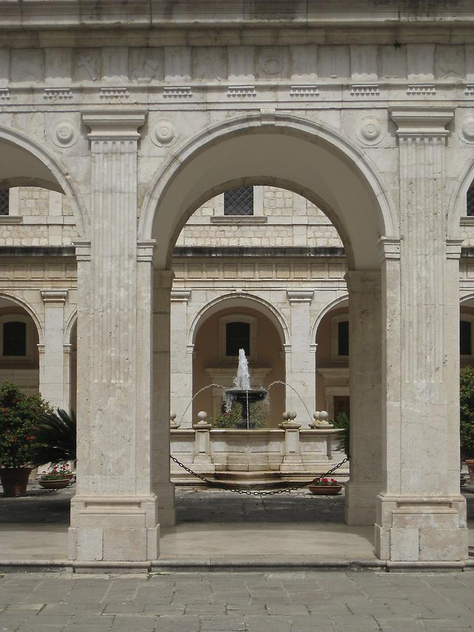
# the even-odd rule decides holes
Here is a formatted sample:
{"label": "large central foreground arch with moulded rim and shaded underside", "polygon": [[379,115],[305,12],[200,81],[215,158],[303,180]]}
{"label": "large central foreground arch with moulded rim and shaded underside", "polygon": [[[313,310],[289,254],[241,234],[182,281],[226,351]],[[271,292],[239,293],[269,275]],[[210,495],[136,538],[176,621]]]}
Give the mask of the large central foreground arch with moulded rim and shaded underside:
{"label": "large central foreground arch with moulded rim and shaded underside", "polygon": [[158,268],[190,215],[239,183],[293,190],[336,226],[350,268],[379,267],[379,237],[397,235],[397,218],[381,178],[357,147],[327,126],[289,114],[251,114],[210,127],[181,145],[145,195],[140,239],[156,239]]}

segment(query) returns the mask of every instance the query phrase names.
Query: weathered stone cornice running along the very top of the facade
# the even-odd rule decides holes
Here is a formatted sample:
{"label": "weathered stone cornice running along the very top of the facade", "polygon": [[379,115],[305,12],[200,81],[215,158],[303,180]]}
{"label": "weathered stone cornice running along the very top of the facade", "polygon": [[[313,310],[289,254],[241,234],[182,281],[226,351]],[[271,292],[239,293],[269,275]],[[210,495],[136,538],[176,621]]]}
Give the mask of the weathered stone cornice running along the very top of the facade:
{"label": "weathered stone cornice running along the very top of the facade", "polygon": [[[419,9],[419,6],[423,11]],[[471,0],[1,0],[2,29],[472,24]]]}

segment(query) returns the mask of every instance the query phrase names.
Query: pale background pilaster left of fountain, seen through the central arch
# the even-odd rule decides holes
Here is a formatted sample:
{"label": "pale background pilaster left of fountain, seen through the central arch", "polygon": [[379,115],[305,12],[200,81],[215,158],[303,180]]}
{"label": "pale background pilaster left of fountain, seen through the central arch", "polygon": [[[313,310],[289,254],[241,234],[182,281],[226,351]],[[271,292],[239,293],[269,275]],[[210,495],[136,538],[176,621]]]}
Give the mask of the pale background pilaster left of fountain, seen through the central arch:
{"label": "pale background pilaster left of fountain, seen through the central arch", "polygon": [[187,345],[190,290],[171,290],[171,410],[181,428],[192,426],[192,351]]}

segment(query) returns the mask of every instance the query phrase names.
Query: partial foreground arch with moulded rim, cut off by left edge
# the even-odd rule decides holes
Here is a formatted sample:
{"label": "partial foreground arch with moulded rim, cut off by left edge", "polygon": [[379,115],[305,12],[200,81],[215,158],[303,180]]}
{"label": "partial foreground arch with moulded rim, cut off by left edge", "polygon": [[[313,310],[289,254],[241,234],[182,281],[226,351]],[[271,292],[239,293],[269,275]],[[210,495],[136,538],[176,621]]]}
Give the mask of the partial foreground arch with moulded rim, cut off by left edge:
{"label": "partial foreground arch with moulded rim, cut off by left edge", "polygon": [[[0,126],[0,156],[0,185],[39,186],[63,193],[71,204],[78,235],[88,234],[86,209],[58,159],[27,136],[5,126]],[[16,166],[18,162],[20,167]],[[29,173],[22,173],[23,169]]]}

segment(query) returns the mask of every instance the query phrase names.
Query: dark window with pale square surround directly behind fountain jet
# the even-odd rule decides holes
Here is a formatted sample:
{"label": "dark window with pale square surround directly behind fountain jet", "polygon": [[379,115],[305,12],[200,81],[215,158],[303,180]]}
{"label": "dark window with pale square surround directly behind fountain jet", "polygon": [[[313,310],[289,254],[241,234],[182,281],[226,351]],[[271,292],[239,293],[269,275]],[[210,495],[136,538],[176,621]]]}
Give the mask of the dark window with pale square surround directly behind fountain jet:
{"label": "dark window with pale square surround directly behind fountain jet", "polygon": [[257,359],[257,320],[246,314],[231,314],[219,319],[219,360],[235,362],[239,349],[244,349],[246,357]]}

